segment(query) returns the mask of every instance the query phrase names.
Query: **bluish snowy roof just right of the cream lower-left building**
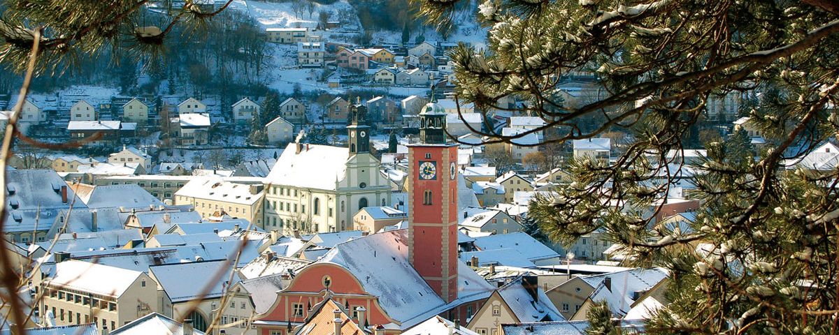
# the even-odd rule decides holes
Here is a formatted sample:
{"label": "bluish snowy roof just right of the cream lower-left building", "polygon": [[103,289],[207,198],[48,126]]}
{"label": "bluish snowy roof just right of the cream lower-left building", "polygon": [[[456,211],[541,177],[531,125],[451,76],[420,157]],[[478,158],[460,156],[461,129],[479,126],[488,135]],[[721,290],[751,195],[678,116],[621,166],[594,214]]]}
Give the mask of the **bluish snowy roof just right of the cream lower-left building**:
{"label": "bluish snowy roof just right of the cream lower-left building", "polygon": [[[216,273],[219,271],[222,273],[221,280],[216,280]],[[149,266],[149,274],[163,287],[172,303],[221,296],[224,289],[230,286],[227,283],[230,271],[232,266],[227,264],[227,259]],[[185,281],[185,278],[190,280]],[[233,278],[235,281],[237,276]]]}

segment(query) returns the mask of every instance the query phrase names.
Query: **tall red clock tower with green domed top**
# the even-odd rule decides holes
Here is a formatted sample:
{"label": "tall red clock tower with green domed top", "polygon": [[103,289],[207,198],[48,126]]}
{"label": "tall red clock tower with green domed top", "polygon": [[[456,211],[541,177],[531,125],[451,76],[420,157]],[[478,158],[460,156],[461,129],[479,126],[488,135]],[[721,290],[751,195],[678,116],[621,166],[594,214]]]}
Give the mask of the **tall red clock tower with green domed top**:
{"label": "tall red clock tower with green domed top", "polygon": [[457,145],[446,142],[436,99],[420,112],[420,142],[408,146],[409,260],[446,302],[457,298]]}

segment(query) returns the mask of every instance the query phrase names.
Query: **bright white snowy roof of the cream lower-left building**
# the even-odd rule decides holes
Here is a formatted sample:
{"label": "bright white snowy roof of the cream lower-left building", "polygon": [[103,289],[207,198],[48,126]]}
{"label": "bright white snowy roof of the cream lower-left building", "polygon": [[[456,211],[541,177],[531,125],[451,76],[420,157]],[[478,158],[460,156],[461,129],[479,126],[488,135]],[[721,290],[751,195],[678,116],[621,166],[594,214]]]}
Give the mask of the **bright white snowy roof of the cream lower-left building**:
{"label": "bright white snowy roof of the cream lower-left building", "polygon": [[[122,296],[143,272],[96,264],[81,260],[65,260],[55,265],[48,285],[91,292],[102,296]],[[107,281],[103,281],[107,278]]]}

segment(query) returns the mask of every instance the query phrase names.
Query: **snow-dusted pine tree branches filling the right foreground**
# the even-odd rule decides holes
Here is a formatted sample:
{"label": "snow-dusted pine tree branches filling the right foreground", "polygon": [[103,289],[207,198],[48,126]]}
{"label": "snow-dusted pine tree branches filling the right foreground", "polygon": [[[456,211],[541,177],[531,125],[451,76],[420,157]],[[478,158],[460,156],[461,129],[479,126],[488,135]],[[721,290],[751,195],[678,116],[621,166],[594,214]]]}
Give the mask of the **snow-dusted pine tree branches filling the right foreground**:
{"label": "snow-dusted pine tree branches filling the right foreground", "polygon": [[[417,2],[432,24],[451,22],[457,3]],[[839,170],[785,164],[790,149],[839,133],[839,4],[491,0],[478,17],[487,46],[450,53],[461,103],[488,111],[519,97],[545,121],[531,132],[554,133],[550,142],[632,135],[613,160],[571,160],[574,183],[538,195],[529,215],[552,240],[597,231],[628,265],[667,268],[668,301],[647,333],[836,332]],[[587,74],[598,80],[591,97],[551,99],[561,80]],[[696,101],[732,93],[760,96],[748,116],[769,148],[753,159],[743,134],[708,143],[685,192],[700,204],[696,219],[658,224],[673,176],[684,176],[667,153],[705,113]]]}

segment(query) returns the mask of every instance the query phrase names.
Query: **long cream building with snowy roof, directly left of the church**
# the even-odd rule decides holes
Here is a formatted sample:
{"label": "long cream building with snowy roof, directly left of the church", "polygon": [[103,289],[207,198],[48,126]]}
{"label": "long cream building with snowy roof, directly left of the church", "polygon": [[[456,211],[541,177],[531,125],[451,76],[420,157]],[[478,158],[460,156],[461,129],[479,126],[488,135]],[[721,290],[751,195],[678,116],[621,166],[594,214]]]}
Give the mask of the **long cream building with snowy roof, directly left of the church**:
{"label": "long cream building with snowy roof, directly left of the church", "polygon": [[191,205],[201,217],[229,215],[263,228],[263,186],[222,181],[221,178],[194,178],[175,192],[175,205]]}

